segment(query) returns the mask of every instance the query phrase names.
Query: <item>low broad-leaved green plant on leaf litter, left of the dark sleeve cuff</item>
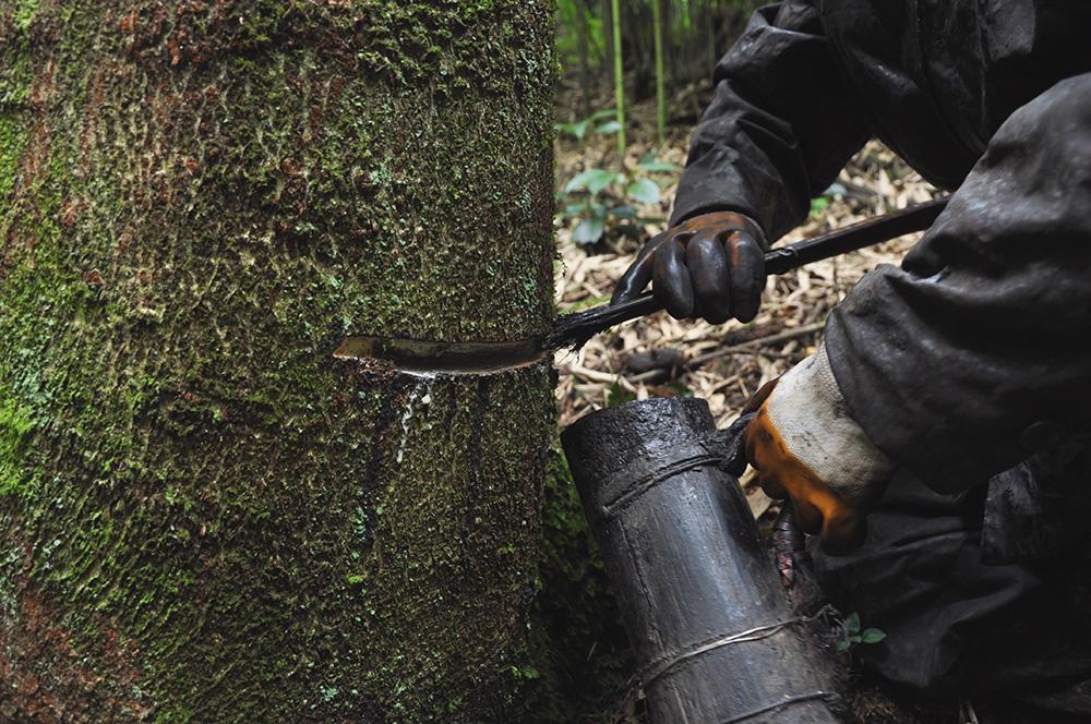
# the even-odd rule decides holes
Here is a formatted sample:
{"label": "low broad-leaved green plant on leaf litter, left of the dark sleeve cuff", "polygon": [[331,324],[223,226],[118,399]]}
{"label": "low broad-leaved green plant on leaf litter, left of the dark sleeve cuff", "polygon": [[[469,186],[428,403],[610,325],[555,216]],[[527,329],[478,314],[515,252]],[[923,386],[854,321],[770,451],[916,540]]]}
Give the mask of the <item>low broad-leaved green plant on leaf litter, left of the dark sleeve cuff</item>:
{"label": "low broad-leaved green plant on leaf litter, left of the dark sleeve cuff", "polygon": [[577,173],[559,194],[564,206],[562,220],[579,219],[572,240],[579,245],[597,243],[613,226],[630,237],[639,237],[639,225],[661,221],[661,217],[640,216],[637,205],[655,206],[661,197],[657,176],[675,173],[674,164],[646,156],[632,174],[592,168]]}

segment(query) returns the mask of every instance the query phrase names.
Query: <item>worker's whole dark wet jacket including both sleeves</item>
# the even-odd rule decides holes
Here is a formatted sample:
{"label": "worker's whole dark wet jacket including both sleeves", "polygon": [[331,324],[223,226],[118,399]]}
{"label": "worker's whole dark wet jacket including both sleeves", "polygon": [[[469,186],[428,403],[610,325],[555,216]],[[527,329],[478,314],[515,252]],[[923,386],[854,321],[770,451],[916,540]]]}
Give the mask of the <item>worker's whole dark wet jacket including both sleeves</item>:
{"label": "worker's whole dark wet jacket including both sleeves", "polygon": [[1089,33],[1082,0],[788,0],[721,60],[694,134],[675,221],[731,209],[778,238],[873,136],[957,189],[826,330],[854,417],[939,491],[1034,455],[1035,480],[1091,490],[1075,454],[1041,464],[1091,420]]}

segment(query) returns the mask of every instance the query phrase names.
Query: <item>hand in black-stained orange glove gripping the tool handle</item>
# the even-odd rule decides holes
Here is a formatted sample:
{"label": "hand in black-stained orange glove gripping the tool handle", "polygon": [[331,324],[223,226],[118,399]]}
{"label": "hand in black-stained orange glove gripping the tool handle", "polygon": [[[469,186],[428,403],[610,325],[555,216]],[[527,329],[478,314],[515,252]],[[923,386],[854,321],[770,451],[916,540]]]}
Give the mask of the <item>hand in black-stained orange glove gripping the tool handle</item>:
{"label": "hand in black-stained orange glove gripping the tool handle", "polygon": [[611,303],[636,298],[654,281],[652,293],[673,317],[750,322],[765,288],[766,249],[762,229],[742,214],[695,216],[645,244]]}

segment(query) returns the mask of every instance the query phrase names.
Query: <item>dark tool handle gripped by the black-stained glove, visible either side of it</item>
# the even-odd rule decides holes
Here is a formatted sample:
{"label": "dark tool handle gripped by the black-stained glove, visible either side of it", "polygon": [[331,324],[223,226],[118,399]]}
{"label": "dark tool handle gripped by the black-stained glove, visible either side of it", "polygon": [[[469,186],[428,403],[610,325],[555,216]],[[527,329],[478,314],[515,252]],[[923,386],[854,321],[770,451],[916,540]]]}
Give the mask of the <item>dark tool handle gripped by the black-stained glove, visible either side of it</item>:
{"label": "dark tool handle gripped by the black-stained glove, visible either side of it", "polygon": [[[820,262],[848,252],[854,252],[883,241],[890,241],[907,233],[923,231],[932,226],[947,206],[947,197],[910,206],[900,212],[885,214],[875,219],[853,224],[850,227],[798,241],[788,246],[774,249],[765,255],[767,274],[783,274],[812,262]],[[663,303],[651,292],[622,304],[602,304],[584,312],[567,314],[555,328],[556,339],[549,340],[552,347],[584,342],[594,335],[609,329],[615,324],[654,314],[663,309]]]}

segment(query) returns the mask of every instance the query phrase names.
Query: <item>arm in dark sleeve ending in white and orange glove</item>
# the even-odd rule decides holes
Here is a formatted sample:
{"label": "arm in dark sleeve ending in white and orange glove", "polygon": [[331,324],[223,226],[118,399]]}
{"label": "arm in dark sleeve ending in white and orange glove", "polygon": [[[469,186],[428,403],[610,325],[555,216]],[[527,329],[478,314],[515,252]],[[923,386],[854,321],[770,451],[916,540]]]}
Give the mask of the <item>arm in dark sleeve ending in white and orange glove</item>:
{"label": "arm in dark sleeve ending in white and orange glove", "polygon": [[752,407],[763,487],[830,553],[897,466],[958,492],[1091,427],[1091,74],[1017,110],[901,268]]}

